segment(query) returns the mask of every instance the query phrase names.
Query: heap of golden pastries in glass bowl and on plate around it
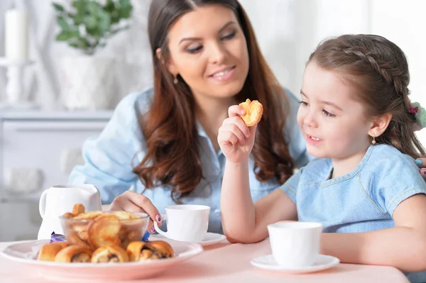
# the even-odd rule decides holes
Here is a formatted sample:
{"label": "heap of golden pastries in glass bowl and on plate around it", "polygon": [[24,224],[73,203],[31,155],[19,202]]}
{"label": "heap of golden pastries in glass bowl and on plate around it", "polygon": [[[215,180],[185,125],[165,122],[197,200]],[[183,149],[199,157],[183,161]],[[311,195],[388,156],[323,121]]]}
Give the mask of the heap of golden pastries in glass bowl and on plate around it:
{"label": "heap of golden pastries in glass bowl and on plate around it", "polygon": [[[66,241],[54,241],[38,250],[37,259],[54,262],[137,262],[173,257],[173,248],[162,240],[141,241],[147,219],[114,211],[84,212],[76,204],[62,216]],[[141,229],[141,225],[143,228]]]}

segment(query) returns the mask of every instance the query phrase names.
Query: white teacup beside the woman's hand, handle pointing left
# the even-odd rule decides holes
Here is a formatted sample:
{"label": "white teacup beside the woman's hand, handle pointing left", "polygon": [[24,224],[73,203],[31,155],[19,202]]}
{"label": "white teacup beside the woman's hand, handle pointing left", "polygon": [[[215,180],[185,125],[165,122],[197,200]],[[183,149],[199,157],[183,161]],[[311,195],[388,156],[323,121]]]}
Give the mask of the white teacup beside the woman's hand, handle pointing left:
{"label": "white teacup beside the woman's hand, handle pointing left", "polygon": [[172,240],[201,242],[209,227],[209,206],[178,204],[165,207],[167,232],[154,221],[155,231]]}

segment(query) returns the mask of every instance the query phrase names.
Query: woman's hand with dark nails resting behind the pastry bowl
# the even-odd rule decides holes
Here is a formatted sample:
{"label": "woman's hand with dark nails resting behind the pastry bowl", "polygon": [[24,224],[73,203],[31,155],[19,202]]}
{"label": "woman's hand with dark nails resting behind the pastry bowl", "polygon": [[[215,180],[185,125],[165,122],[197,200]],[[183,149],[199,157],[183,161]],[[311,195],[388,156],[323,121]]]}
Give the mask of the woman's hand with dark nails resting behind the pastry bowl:
{"label": "woman's hand with dark nails resting behind the pastry bowl", "polygon": [[158,226],[160,226],[163,221],[160,212],[158,212],[158,209],[153,203],[146,196],[133,191],[126,191],[117,196],[114,201],[112,201],[112,204],[109,205],[109,210],[147,213],[151,217],[147,228],[149,233],[155,232],[153,221],[156,221]]}

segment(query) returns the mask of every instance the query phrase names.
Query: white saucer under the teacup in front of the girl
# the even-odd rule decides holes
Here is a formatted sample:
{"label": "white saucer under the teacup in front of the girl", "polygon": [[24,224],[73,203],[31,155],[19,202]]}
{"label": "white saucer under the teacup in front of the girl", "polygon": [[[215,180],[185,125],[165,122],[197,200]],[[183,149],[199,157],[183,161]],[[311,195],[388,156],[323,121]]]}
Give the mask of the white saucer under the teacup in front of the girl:
{"label": "white saucer under the teacup in front of the girl", "polygon": [[275,262],[272,255],[263,255],[256,257],[251,260],[251,265],[259,267],[263,270],[273,270],[286,273],[309,273],[320,270],[327,270],[334,265],[338,265],[340,260],[337,257],[331,255],[318,255],[317,260],[313,265],[307,265],[304,267],[283,267]]}

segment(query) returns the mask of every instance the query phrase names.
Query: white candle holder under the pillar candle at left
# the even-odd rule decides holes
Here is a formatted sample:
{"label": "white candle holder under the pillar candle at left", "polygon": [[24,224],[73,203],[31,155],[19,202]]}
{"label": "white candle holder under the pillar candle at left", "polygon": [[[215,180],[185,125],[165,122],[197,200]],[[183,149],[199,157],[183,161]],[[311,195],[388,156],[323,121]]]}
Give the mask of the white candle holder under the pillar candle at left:
{"label": "white candle holder under the pillar candle at left", "polygon": [[31,60],[9,60],[0,57],[0,67],[7,67],[6,101],[0,102],[0,109],[35,109],[37,104],[23,98],[23,70],[32,65]]}

